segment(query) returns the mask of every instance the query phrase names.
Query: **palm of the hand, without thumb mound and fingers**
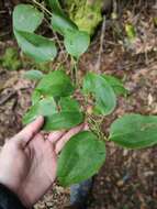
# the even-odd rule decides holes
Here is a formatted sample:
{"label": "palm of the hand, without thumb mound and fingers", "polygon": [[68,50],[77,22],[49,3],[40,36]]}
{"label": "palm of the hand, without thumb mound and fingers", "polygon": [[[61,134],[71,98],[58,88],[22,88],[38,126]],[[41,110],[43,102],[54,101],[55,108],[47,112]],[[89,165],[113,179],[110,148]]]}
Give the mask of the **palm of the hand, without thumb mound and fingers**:
{"label": "palm of the hand, without thumb mound and fingers", "polygon": [[25,167],[20,196],[26,206],[34,205],[49,189],[56,178],[57,157],[52,143],[38,134],[26,146]]}

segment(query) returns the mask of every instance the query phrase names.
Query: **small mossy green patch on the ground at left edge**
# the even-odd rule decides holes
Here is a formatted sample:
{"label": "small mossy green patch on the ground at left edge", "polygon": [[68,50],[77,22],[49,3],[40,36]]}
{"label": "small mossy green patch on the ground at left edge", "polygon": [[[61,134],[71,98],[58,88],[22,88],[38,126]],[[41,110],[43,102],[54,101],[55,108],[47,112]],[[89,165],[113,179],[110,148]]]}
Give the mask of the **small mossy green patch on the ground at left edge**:
{"label": "small mossy green patch on the ground at left edge", "polygon": [[0,58],[1,66],[9,70],[18,70],[22,64],[19,58],[19,53],[15,48],[9,47],[4,55]]}

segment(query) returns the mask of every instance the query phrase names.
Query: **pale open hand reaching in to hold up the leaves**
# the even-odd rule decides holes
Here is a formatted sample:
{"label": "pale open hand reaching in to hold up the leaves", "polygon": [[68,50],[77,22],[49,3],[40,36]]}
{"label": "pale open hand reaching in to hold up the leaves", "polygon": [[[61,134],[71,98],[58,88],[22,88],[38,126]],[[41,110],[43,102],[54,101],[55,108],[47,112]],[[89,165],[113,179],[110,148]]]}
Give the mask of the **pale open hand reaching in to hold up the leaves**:
{"label": "pale open hand reaching in to hold up the leaves", "polygon": [[0,183],[16,194],[31,208],[53,186],[57,156],[66,142],[85,129],[55,131],[45,139],[41,133],[44,118],[40,117],[5,143],[0,153]]}

